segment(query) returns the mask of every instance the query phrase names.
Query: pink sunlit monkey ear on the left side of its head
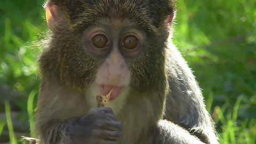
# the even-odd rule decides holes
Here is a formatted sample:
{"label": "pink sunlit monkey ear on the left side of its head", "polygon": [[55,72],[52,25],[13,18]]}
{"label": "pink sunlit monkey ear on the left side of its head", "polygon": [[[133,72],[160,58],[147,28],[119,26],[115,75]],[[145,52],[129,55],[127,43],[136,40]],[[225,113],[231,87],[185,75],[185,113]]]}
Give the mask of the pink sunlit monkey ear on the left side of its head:
{"label": "pink sunlit monkey ear on the left side of its head", "polygon": [[46,21],[49,29],[54,31],[55,27],[58,26],[59,21],[63,19],[61,11],[52,2],[47,2],[45,6]]}

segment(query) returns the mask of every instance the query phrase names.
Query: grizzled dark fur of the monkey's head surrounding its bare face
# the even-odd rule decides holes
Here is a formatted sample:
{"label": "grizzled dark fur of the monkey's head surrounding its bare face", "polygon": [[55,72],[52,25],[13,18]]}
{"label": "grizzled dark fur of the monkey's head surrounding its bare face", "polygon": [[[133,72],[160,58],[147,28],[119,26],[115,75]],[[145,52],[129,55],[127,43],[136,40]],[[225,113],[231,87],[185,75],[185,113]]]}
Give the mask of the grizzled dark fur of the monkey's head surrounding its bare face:
{"label": "grizzled dark fur of the monkey's head surrounding its bare face", "polygon": [[[146,32],[148,41],[148,49],[146,49],[144,57],[129,61],[132,68],[130,70],[134,74],[131,87],[152,90],[155,89],[155,83],[158,83],[157,91],[165,91],[160,87],[166,84],[166,77],[163,77],[165,73],[164,59],[166,59],[163,47],[166,47],[164,43],[166,39],[161,37],[168,32],[163,31],[161,26],[163,21],[175,12],[174,4],[171,1],[171,3],[153,0],[53,0],[51,2],[61,7],[60,11],[66,16],[67,23],[60,23],[59,27],[55,29],[51,36],[50,47],[39,58],[43,75],[47,73],[47,76],[65,85],[84,89],[93,81],[95,77],[93,74],[103,62],[103,59],[95,60],[86,55],[81,45],[84,29],[101,19],[106,19],[106,21],[111,19],[129,20]],[[76,47],[76,49],[70,47]],[[47,61],[51,61],[51,64],[49,65]],[[150,65],[143,67],[146,63],[142,62],[148,61],[150,61]],[[85,65],[86,68],[83,67]],[[153,69],[159,70],[153,71]],[[158,79],[150,78],[152,75]]]}

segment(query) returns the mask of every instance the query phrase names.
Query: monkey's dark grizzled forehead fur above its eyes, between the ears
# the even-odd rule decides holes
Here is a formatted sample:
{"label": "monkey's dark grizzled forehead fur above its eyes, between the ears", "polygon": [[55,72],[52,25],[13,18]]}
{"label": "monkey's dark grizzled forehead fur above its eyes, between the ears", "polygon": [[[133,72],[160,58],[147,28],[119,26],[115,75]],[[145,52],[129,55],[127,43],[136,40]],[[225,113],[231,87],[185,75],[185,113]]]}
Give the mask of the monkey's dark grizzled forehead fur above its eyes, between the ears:
{"label": "monkey's dark grizzled forehead fur above its eyes, between the ears", "polygon": [[52,0],[68,14],[74,28],[86,27],[99,19],[129,19],[154,30],[175,12],[174,0]]}

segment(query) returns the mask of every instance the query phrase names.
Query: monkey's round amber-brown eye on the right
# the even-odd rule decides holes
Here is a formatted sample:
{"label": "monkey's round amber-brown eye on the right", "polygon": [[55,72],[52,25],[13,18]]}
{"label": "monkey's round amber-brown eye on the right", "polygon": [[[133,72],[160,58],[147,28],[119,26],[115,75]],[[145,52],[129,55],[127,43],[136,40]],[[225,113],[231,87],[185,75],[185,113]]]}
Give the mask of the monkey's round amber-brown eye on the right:
{"label": "monkey's round amber-brown eye on the right", "polygon": [[133,35],[127,35],[124,37],[122,46],[125,49],[133,50],[135,49],[139,44],[139,39]]}

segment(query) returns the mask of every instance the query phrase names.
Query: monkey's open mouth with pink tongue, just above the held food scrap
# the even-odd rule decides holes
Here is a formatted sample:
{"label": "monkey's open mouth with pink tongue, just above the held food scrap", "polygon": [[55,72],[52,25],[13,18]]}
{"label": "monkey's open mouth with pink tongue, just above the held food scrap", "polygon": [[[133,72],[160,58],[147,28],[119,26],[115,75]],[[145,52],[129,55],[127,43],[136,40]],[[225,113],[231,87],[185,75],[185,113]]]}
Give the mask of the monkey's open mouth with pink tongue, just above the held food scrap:
{"label": "monkey's open mouth with pink tongue, just above the held food scrap", "polygon": [[112,85],[101,85],[100,86],[100,94],[101,95],[107,95],[111,89],[113,89],[110,99],[109,100],[115,100],[119,94],[122,93],[123,87],[122,86],[112,86]]}

